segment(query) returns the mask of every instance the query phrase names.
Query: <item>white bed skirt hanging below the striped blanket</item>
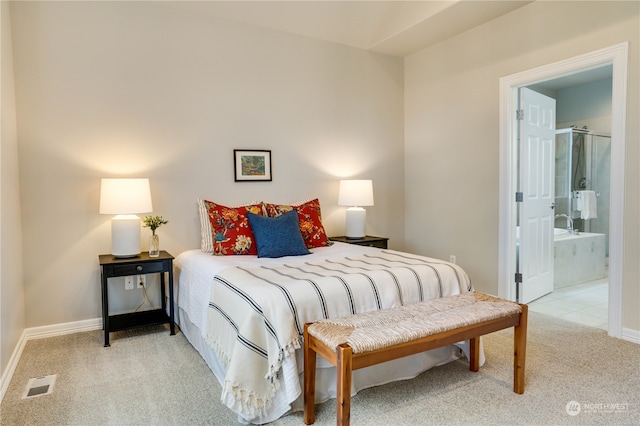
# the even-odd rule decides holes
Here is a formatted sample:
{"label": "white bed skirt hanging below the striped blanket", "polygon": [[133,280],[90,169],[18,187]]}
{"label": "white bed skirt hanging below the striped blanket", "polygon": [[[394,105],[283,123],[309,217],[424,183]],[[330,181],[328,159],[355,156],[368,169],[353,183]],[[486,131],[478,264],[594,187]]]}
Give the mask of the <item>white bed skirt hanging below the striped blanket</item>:
{"label": "white bed skirt hanging below the striped blanket", "polygon": [[[209,347],[202,332],[189,319],[189,315],[181,308],[178,309],[178,324],[180,330],[191,345],[200,353],[213,374],[221,384],[224,383],[225,368],[218,362],[214,351]],[[480,347],[480,364],[484,364],[484,351],[482,341]],[[469,344],[461,342],[456,346],[445,346],[428,352],[422,352],[405,358],[388,361],[383,364],[366,367],[353,372],[351,395],[356,395],[360,390],[373,386],[383,385],[398,380],[406,380],[416,377],[420,373],[432,367],[443,365],[462,356],[468,358]],[[288,358],[283,365],[282,385],[272,400],[266,416],[254,419],[245,419],[238,415],[239,423],[264,424],[272,422],[290,412],[303,410],[303,353],[296,351],[296,359]],[[287,377],[287,372],[297,371],[295,377]],[[291,375],[291,373],[289,373]],[[316,372],[316,403],[325,402],[336,397],[336,370],[322,357],[317,360]]]}

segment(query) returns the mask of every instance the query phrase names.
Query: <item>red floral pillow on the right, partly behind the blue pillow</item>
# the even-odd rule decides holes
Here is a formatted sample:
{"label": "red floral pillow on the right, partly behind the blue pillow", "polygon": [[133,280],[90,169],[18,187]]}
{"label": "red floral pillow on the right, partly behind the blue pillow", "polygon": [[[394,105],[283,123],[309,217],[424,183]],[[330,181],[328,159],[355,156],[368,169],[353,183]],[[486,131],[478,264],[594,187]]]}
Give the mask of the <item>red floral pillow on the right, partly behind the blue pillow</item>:
{"label": "red floral pillow on the right, partly behind the blue pillow", "polygon": [[325,247],[333,244],[322,226],[322,213],[320,201],[316,198],[297,206],[263,203],[265,212],[269,217],[278,217],[288,211],[298,211],[300,232],[307,248]]}

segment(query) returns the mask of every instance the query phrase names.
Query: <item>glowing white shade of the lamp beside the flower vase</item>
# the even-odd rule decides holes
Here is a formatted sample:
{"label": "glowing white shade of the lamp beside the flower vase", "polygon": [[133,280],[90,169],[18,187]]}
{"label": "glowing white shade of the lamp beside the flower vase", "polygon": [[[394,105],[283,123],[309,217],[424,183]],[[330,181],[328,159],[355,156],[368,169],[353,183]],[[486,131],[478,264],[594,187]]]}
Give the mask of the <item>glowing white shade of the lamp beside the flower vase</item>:
{"label": "glowing white shade of the lamp beside the flower vase", "polygon": [[101,214],[149,213],[152,210],[149,179],[102,179]]}

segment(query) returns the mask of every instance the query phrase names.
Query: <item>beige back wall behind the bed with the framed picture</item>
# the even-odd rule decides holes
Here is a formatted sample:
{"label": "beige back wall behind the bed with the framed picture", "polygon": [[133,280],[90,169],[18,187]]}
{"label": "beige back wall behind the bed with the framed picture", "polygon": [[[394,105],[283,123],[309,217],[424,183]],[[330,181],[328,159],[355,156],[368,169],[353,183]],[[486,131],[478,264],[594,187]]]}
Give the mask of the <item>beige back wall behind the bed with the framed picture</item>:
{"label": "beige back wall behind the bed with the framed picture", "polygon": [[[27,327],[101,315],[101,177],[150,178],[174,255],[199,246],[197,197],[319,197],[336,235],[339,178],[371,178],[367,231],[402,247],[401,59],[162,2],[17,2],[12,26]],[[272,150],[273,182],[234,183],[234,148]]]}

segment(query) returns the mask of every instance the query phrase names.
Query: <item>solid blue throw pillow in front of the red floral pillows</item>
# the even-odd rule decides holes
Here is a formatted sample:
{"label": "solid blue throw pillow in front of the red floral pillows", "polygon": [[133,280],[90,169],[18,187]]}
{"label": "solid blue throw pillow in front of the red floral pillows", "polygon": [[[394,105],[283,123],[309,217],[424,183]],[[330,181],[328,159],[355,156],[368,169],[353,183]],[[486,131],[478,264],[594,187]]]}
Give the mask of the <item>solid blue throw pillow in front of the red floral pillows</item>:
{"label": "solid blue throw pillow in front of the red floral pillows", "polygon": [[258,248],[258,257],[301,256],[310,254],[300,225],[298,212],[292,210],[278,217],[247,213]]}

